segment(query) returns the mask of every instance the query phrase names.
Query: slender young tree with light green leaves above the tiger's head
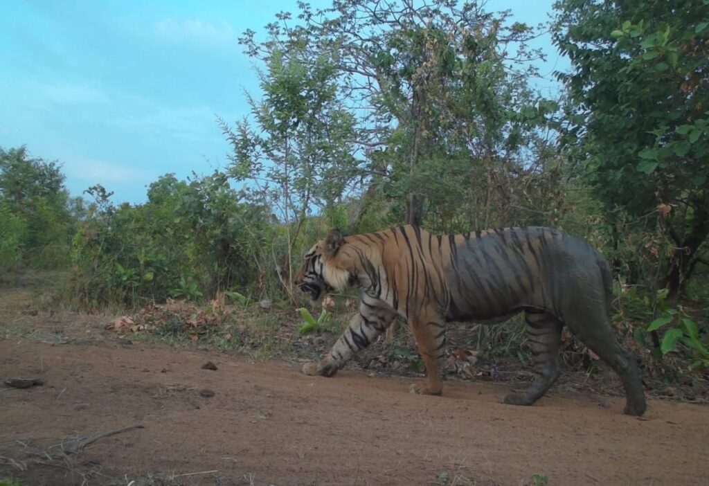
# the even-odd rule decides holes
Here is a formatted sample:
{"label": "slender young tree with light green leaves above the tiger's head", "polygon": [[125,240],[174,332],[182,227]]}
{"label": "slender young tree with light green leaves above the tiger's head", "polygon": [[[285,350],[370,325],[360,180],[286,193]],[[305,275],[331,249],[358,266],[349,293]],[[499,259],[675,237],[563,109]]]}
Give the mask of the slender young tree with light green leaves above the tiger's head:
{"label": "slender young tree with light green leaves above the tiger's head", "polygon": [[289,265],[306,215],[313,206],[331,210],[354,183],[359,163],[354,117],[337,99],[336,53],[324,50],[311,59],[306,47],[306,40],[269,44],[263,98],[249,97],[253,122],[232,130],[220,120],[234,150],[229,174],[284,223]]}

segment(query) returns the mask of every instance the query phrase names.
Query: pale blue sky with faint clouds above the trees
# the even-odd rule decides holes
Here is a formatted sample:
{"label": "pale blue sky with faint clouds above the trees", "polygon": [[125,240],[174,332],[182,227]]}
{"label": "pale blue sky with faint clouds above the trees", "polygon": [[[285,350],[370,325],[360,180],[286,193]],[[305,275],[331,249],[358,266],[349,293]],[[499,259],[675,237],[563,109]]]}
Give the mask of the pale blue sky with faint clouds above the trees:
{"label": "pale blue sky with faint clouds above the trees", "polygon": [[[491,0],[487,9],[536,25],[552,3]],[[249,113],[244,90],[259,97],[237,39],[247,28],[262,34],[279,11],[297,11],[296,0],[1,0],[0,147],[26,145],[62,164],[72,196],[100,183],[116,203],[143,203],[163,174],[224,169],[229,145],[216,117],[233,124]],[[536,46],[548,56],[542,75],[567,65],[548,35]]]}

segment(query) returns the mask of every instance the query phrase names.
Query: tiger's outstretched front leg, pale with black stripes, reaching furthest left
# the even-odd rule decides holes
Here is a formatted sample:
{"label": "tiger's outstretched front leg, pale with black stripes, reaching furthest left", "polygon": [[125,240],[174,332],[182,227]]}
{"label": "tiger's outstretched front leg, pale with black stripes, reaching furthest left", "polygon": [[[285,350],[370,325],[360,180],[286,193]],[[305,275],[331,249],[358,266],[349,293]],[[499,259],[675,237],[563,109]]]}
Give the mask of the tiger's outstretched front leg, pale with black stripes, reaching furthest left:
{"label": "tiger's outstretched front leg, pale with black stripes, reaching furthest left", "polygon": [[318,363],[305,363],[303,373],[328,377],[335,375],[354,353],[369,346],[379,334],[384,332],[391,325],[394,317],[393,311],[364,303],[363,300],[359,305],[359,312],[352,316],[347,329],[340,339],[337,339],[325,358]]}

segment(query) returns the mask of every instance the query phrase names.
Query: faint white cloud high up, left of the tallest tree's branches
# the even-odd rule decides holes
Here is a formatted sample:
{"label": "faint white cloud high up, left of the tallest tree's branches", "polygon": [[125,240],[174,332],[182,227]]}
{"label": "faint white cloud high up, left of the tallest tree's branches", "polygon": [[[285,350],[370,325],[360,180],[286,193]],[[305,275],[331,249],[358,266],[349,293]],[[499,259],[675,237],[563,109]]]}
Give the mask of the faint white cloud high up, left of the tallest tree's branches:
{"label": "faint white cloud high up, left of the tallest tree's branches", "polygon": [[234,29],[224,21],[213,23],[198,19],[166,18],[155,23],[154,28],[158,37],[174,43],[235,45],[237,40]]}

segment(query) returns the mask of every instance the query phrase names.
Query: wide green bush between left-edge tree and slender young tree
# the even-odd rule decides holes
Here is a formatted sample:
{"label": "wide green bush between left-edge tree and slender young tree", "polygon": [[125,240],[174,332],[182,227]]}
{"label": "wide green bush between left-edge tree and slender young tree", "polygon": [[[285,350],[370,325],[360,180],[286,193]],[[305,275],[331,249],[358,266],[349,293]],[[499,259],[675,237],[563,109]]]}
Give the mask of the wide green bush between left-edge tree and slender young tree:
{"label": "wide green bush between left-edge tree and slender young tree", "polygon": [[[266,208],[241,202],[223,174],[152,183],[143,205],[108,201],[103,188],[74,237],[74,295],[94,307],[218,290],[262,291],[263,249],[274,227]],[[272,266],[270,267],[272,268]]]}

